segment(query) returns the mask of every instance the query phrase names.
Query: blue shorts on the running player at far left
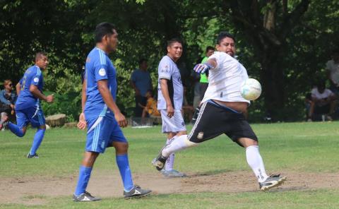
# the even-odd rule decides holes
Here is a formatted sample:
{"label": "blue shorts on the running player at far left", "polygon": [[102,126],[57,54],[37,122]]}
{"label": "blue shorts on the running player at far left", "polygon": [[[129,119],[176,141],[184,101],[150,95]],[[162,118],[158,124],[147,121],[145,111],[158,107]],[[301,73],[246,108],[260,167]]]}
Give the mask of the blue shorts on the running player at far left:
{"label": "blue shorts on the running player at far left", "polygon": [[31,124],[35,128],[43,126],[44,121],[44,112],[40,106],[28,107],[26,109],[16,109],[16,124],[20,128]]}

